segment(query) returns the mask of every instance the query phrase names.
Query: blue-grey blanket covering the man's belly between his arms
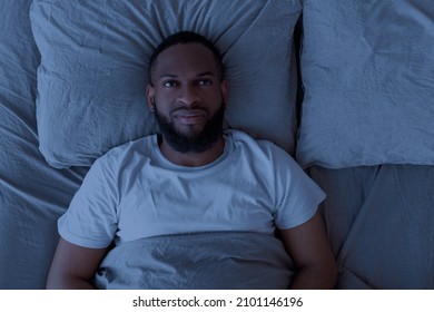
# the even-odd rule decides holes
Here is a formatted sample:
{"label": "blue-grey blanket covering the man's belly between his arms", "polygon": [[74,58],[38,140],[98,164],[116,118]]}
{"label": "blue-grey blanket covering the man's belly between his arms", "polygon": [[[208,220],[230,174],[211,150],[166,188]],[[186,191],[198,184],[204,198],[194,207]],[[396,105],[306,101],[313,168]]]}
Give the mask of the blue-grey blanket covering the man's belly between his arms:
{"label": "blue-grey blanket covering the man's belly between his arms", "polygon": [[274,236],[219,232],[142,238],[112,248],[98,289],[287,289],[293,263]]}

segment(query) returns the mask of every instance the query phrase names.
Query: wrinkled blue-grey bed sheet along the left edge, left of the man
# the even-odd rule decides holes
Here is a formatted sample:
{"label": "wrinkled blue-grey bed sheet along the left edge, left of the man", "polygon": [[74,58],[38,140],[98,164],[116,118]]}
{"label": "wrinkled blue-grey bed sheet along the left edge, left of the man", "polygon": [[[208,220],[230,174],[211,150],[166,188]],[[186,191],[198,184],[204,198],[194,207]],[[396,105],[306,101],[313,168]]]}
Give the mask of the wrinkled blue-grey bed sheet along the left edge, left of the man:
{"label": "wrinkled blue-grey bed sheet along the left edge, left of the man", "polygon": [[86,172],[53,169],[38,150],[30,3],[0,1],[0,289],[45,287],[56,221]]}

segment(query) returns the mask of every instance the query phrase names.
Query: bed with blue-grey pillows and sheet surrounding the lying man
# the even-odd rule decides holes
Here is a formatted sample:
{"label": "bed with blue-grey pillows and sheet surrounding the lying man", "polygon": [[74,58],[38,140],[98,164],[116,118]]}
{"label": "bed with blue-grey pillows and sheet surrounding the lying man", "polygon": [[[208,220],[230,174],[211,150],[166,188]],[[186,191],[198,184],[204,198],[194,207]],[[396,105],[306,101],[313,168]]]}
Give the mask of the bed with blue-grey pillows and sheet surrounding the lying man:
{"label": "bed with blue-grey pillows and sheet surrounding the lying man", "polygon": [[279,145],[326,192],[337,289],[434,287],[430,0],[2,0],[0,14],[0,289],[45,287],[89,166],[157,130],[147,59],[181,29],[225,53],[226,126]]}

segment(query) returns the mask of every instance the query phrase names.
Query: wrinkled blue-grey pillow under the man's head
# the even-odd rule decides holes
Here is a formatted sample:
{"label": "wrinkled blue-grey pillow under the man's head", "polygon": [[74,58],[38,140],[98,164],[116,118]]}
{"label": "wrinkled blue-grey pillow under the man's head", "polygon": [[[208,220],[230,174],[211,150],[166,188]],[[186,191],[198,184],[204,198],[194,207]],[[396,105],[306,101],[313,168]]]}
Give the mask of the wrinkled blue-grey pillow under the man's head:
{"label": "wrinkled blue-grey pillow under the man's head", "polygon": [[155,133],[147,62],[179,30],[208,37],[225,55],[227,125],[293,153],[292,47],[300,10],[298,0],[34,0],[41,153],[58,168],[89,166],[111,147]]}

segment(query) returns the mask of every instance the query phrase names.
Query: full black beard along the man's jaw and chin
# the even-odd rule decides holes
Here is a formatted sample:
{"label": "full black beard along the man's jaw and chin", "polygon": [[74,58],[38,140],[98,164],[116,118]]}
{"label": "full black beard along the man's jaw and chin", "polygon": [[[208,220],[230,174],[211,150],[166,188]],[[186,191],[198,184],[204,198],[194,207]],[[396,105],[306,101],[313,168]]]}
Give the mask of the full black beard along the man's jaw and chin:
{"label": "full black beard along the man's jaw and chin", "polygon": [[[187,109],[187,108],[186,108]],[[197,134],[184,134],[176,129],[166,116],[161,115],[155,104],[155,116],[160,129],[160,135],[171,148],[179,153],[203,153],[211,148],[223,135],[223,123],[225,118],[225,105],[208,120],[205,127]]]}

